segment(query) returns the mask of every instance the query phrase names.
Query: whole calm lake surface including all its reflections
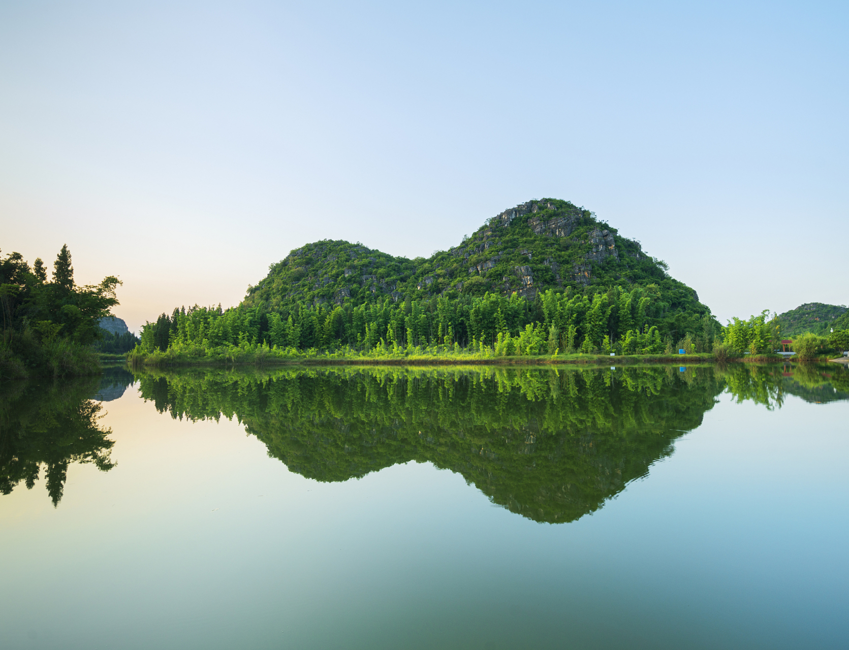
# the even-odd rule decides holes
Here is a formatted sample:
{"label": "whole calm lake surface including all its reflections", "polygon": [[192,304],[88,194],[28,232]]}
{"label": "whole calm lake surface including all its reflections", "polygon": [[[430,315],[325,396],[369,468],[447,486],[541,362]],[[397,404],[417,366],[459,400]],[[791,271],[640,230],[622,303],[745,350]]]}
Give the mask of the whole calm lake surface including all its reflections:
{"label": "whole calm lake surface including all its reflections", "polygon": [[849,372],[0,389],[3,648],[849,647]]}

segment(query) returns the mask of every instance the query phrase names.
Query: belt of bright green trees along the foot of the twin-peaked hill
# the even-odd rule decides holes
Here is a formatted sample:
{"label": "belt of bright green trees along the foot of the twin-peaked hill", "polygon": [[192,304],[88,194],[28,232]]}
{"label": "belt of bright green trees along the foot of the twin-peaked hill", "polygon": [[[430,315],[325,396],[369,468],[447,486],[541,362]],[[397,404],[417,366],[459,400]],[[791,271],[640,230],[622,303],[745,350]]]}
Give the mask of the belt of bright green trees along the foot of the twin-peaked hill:
{"label": "belt of bright green trees along the foot of the twin-peaked hill", "polygon": [[656,285],[610,287],[590,294],[548,289],[526,300],[519,294],[444,296],[353,305],[298,304],[267,310],[195,305],[147,322],[138,350],[219,350],[265,345],[278,350],[460,350],[486,346],[498,354],[573,352],[659,354],[675,345],[710,351],[719,323],[702,312],[671,309]]}

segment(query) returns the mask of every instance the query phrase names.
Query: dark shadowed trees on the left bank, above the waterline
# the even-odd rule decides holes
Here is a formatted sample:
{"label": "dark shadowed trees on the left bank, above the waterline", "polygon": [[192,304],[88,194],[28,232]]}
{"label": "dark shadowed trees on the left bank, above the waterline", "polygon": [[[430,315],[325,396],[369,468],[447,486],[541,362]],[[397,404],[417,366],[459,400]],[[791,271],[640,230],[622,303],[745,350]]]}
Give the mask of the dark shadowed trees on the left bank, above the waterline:
{"label": "dark shadowed trees on the left bank, above the waterline", "polygon": [[118,304],[116,277],[79,286],[63,246],[52,279],[41,258],[30,266],[20,253],[0,260],[0,378],[61,377],[99,372],[92,344],[102,339],[101,318]]}

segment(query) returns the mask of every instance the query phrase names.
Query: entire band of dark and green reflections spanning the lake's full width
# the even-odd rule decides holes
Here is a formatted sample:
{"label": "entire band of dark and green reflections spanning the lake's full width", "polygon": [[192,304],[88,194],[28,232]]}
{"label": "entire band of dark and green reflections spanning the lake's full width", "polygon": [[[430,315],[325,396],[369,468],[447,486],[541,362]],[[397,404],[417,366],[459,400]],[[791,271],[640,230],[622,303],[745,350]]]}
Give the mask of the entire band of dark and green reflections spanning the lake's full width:
{"label": "entire band of dark and green reflections spanning the lake's full width", "polygon": [[[849,369],[827,366],[398,367],[140,373],[0,387],[0,491],[62,498],[71,462],[114,467],[98,401],[139,382],[159,412],[237,417],[290,471],[344,481],[396,463],[460,473],[494,504],[564,523],[604,506],[728,391],[780,408],[786,395],[849,399]],[[89,399],[90,398],[90,399]]]}

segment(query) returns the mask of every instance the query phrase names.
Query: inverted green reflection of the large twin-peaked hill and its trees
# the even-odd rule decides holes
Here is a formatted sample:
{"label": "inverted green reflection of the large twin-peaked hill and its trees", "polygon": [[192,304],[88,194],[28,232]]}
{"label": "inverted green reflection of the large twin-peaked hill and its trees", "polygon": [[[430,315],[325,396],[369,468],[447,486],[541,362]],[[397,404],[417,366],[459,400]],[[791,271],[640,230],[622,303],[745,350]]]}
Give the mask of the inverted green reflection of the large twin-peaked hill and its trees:
{"label": "inverted green reflection of the large twin-peaked hill and its trees", "polygon": [[710,368],[339,368],[146,375],[141,390],[173,417],[238,416],[308,478],[433,462],[514,513],[559,523],[670,455],[722,384]]}

